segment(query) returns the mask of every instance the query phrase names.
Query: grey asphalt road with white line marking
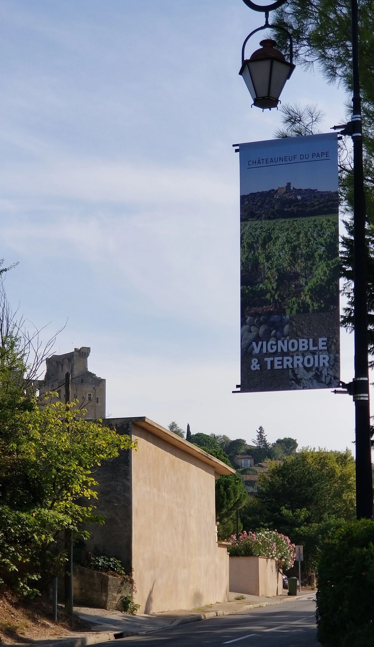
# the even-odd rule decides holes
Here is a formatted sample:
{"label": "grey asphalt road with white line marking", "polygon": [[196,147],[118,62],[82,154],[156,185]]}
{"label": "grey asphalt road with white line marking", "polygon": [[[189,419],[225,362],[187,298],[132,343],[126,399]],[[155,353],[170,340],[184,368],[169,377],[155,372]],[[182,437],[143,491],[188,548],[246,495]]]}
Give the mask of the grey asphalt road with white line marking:
{"label": "grey asphalt road with white line marking", "polygon": [[122,647],[320,647],[315,601],[296,599],[143,636],[119,639]]}

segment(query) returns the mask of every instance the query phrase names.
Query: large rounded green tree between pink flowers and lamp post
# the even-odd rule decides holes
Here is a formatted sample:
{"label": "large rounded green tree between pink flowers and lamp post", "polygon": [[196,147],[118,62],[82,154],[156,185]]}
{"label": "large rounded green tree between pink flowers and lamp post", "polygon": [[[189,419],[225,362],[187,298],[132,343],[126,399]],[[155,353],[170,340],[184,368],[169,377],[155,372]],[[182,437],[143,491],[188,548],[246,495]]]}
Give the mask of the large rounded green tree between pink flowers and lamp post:
{"label": "large rounded green tree between pink flowers and lamp post", "polygon": [[259,476],[258,497],[240,511],[244,529],[276,529],[304,545],[303,567],[311,574],[329,533],[355,516],[353,456],[307,448],[268,468]]}

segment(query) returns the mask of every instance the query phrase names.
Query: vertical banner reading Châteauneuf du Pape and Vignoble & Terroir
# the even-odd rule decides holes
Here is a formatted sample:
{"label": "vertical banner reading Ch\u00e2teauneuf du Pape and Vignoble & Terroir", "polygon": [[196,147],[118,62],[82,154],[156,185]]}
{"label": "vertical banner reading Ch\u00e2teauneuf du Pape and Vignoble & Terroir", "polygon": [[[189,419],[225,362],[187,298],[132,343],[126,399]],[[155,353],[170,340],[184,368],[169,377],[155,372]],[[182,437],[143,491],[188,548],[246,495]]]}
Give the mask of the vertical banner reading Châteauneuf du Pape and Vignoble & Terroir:
{"label": "vertical banner reading Ch\u00e2teauneuf du Pape and Vignoble & Terroir", "polygon": [[336,387],[337,134],[239,152],[240,391]]}

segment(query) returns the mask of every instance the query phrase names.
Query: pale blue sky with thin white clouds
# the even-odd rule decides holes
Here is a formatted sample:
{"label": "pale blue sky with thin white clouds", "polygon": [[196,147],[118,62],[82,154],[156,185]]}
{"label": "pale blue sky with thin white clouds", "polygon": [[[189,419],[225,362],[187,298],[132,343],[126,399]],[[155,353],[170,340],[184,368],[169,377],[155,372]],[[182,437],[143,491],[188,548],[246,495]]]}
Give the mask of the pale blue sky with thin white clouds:
{"label": "pale blue sky with thin white clouds", "polygon": [[[353,448],[354,406],[326,391],[232,395],[240,381],[239,168],[268,140],[242,43],[242,0],[0,0],[0,258],[10,302],[88,345],[107,413],[192,432]],[[256,34],[247,52],[258,48]],[[346,96],[296,69],[282,101]],[[342,333],[342,379],[353,338]]]}

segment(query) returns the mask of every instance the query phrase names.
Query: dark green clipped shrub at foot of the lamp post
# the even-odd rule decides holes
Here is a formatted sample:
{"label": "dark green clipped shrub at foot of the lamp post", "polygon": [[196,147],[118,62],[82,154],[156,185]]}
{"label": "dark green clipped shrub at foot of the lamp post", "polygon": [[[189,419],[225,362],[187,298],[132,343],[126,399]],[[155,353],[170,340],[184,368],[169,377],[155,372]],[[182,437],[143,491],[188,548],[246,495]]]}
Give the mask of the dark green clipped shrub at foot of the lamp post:
{"label": "dark green clipped shrub at foot of the lamp post", "polygon": [[362,647],[374,636],[374,522],[346,523],[327,540],[318,565],[318,641]]}

